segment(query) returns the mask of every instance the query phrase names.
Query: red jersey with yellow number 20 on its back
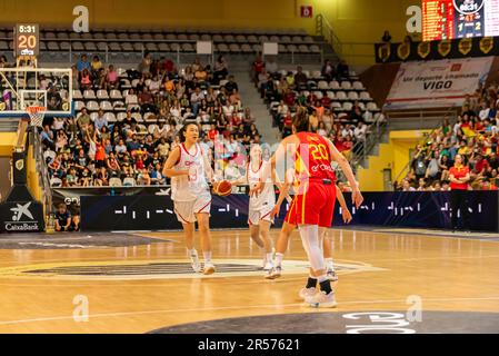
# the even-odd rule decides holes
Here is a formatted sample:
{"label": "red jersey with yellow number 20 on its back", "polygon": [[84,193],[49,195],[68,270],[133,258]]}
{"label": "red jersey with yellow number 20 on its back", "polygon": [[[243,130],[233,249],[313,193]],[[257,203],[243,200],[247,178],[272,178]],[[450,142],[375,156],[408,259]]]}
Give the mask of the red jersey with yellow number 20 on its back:
{"label": "red jersey with yellow number 20 on its back", "polygon": [[296,134],[300,140],[295,157],[295,169],[298,180],[329,179],[336,181],[335,169],[331,167],[331,154],[328,141],[313,132]]}

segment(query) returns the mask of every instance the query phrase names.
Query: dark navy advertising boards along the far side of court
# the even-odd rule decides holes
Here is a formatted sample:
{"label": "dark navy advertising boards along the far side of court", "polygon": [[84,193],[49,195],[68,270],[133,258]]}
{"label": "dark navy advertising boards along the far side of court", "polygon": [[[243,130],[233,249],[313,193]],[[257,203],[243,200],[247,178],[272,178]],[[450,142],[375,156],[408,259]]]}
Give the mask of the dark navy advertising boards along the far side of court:
{"label": "dark navy advertising boards along the far side of court", "polygon": [[[449,192],[365,192],[359,209],[347,205],[357,226],[450,228]],[[248,195],[212,196],[210,226],[212,228],[247,228]],[[471,229],[499,231],[499,192],[470,191]],[[282,204],[275,227],[280,227],[289,205]],[[342,226],[341,209],[336,205],[332,226]],[[179,230],[180,222],[169,196],[81,196],[81,229],[83,231],[113,230]]]}

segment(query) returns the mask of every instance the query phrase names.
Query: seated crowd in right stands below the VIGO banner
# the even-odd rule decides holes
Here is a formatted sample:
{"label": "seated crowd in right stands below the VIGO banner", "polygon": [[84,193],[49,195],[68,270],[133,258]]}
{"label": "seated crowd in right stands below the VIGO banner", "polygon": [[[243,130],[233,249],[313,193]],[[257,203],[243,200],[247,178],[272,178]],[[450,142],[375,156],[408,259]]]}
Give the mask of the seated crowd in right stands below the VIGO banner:
{"label": "seated crowd in right stands below the VIGO banner", "polygon": [[396,190],[449,190],[449,169],[461,155],[470,170],[469,189],[497,190],[499,186],[499,90],[480,86],[468,96],[456,123],[445,120],[423,145],[418,145],[410,171]]}

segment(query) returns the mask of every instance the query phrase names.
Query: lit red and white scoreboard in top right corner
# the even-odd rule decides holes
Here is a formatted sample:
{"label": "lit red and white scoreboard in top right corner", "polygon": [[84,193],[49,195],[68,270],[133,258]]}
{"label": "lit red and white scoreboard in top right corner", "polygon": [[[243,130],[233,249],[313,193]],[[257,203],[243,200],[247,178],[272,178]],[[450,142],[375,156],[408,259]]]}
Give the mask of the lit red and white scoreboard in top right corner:
{"label": "lit red and white scoreboard in top right corner", "polygon": [[499,36],[499,0],[422,0],[423,41]]}

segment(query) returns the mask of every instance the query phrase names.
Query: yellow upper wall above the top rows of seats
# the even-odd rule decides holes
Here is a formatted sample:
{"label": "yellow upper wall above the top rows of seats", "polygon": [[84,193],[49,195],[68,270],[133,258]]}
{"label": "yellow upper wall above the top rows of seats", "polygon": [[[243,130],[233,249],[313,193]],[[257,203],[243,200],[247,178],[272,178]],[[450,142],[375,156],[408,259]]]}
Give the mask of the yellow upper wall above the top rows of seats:
{"label": "yellow upper wall above the top rows of seats", "polygon": [[345,43],[352,63],[373,63],[372,43],[385,30],[395,41],[406,34],[406,9],[420,0],[0,0],[0,22],[38,22],[70,28],[76,6],[89,8],[90,28],[297,28],[316,34],[315,19],[302,19],[300,6],[322,13]]}

